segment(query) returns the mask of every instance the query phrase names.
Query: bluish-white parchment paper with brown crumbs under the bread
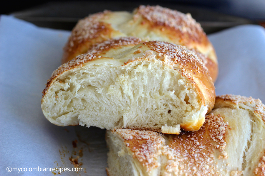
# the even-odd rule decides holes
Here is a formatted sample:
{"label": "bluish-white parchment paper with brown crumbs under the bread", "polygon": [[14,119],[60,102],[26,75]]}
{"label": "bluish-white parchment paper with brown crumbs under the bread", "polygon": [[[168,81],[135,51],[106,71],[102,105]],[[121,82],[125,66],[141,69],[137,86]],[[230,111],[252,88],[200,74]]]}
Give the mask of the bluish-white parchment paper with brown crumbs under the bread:
{"label": "bluish-white parchment paper with brown crumbs under the bread", "polygon": [[[53,125],[40,107],[41,92],[60,66],[69,34],[39,28],[12,16],[0,18],[0,175],[59,175],[6,169],[72,169],[78,163],[85,172],[60,174],[106,176],[105,130]],[[264,28],[239,26],[209,38],[219,61],[216,94],[252,96],[265,103]]]}

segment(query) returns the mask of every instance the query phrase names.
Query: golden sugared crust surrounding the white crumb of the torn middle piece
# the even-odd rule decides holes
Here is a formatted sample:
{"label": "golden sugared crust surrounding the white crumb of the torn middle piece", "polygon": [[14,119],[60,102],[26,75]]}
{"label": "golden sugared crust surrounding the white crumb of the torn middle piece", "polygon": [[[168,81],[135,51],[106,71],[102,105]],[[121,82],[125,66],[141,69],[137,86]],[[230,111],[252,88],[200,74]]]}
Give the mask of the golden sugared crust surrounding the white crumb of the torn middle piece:
{"label": "golden sugared crust surrounding the white crumb of the torn middle piece", "polygon": [[[119,40],[119,41],[121,41],[121,43],[122,43],[122,40]],[[129,40],[129,41],[131,41],[131,40]],[[55,96],[57,96],[57,93],[62,89],[61,87],[68,87],[69,90],[73,89],[73,87],[71,87],[71,84],[69,82],[64,82],[64,81],[61,82],[61,80],[64,80],[64,78],[67,77],[67,75],[78,74],[81,69],[86,69],[87,67],[90,67],[91,63],[95,63],[95,61],[105,63],[106,60],[108,60],[108,62],[110,60],[113,60],[113,62],[118,62],[121,65],[121,66],[118,66],[117,69],[120,69],[120,68],[126,69],[126,70],[128,70],[128,72],[132,72],[133,70],[135,70],[138,67],[137,65],[155,64],[155,65],[157,65],[155,67],[159,68],[159,70],[160,70],[160,68],[162,70],[168,69],[167,72],[171,72],[170,70],[172,70],[172,74],[180,75],[181,80],[183,78],[183,80],[187,81],[187,84],[184,86],[190,87],[190,90],[188,90],[188,91],[189,92],[194,91],[192,93],[192,97],[193,97],[192,102],[191,102],[191,100],[187,99],[187,100],[185,100],[186,101],[185,104],[190,104],[190,103],[194,104],[193,101],[195,101],[196,108],[195,108],[195,104],[194,104],[194,108],[195,108],[194,111],[196,111],[196,112],[198,111],[197,116],[189,117],[190,115],[187,115],[187,118],[189,120],[182,119],[182,123],[180,124],[180,127],[182,127],[186,131],[198,130],[205,121],[204,114],[206,114],[207,111],[208,112],[211,111],[211,109],[213,108],[213,105],[214,105],[214,101],[215,101],[215,88],[214,88],[212,79],[211,79],[210,75],[208,74],[208,69],[204,66],[202,60],[200,59],[200,57],[198,57],[196,55],[196,53],[192,52],[191,50],[188,50],[184,46],[174,45],[174,44],[170,44],[167,42],[159,42],[159,41],[149,41],[149,42],[144,42],[144,43],[140,43],[138,45],[135,45],[136,43],[139,43],[140,41],[141,40],[138,40],[136,38],[135,40],[132,40],[131,42],[127,42],[127,43],[124,40],[126,45],[120,45],[120,42],[111,43],[110,45],[107,45],[108,47],[106,47],[106,45],[101,45],[101,47],[98,48],[99,49],[98,51],[100,51],[100,52],[98,52],[96,49],[94,49],[93,50],[94,53],[97,53],[97,54],[105,53],[105,55],[108,55],[108,57],[104,57],[104,55],[101,56],[101,55],[94,55],[94,54],[80,55],[80,56],[74,58],[73,60],[67,62],[66,64],[63,64],[61,67],[59,67],[57,70],[55,70],[52,74],[52,77],[48,80],[47,86],[43,91],[42,109],[43,109],[44,115],[47,117],[47,119],[50,120],[51,122],[57,124],[57,125],[62,125],[62,124],[64,124],[64,125],[65,124],[76,125],[78,123],[78,115],[74,115],[74,117],[71,116],[71,118],[75,118],[74,124],[68,123],[68,122],[62,123],[59,120],[54,119],[54,118],[61,117],[58,114],[62,114],[62,118],[65,119],[64,114],[69,113],[67,109],[71,109],[72,107],[74,107],[74,105],[71,105],[71,106],[67,105],[67,107],[65,106],[65,108],[67,108],[67,109],[62,111],[62,112],[60,111],[60,113],[58,113],[57,111],[56,112],[53,111],[53,109],[55,108],[57,103],[59,103],[59,104],[63,103],[64,104],[65,100],[69,99],[68,96],[67,96],[67,98],[63,98],[62,100],[61,99],[58,100],[57,97],[55,97]],[[135,45],[135,46],[132,47],[132,45]],[[110,46],[112,46],[114,48],[110,48]],[[121,46],[126,46],[127,48],[125,51],[118,52],[119,49],[123,50],[123,48]],[[117,47],[118,49],[115,47]],[[139,49],[141,50],[141,52],[138,52]],[[117,55],[110,55],[109,52],[114,52],[114,53],[116,53],[116,54],[118,53],[118,54]],[[121,64],[122,62],[124,62],[123,65]],[[87,72],[88,71],[89,70],[87,70]],[[94,74],[94,73],[92,73],[92,74]],[[109,73],[107,73],[107,74],[109,74]],[[124,74],[121,74],[121,76],[123,76],[123,75]],[[135,75],[132,74],[132,77],[135,77]],[[173,77],[172,79],[175,79],[175,78]],[[117,78],[115,78],[114,80],[117,80]],[[59,83],[58,83],[58,81],[59,81]],[[130,80],[128,80],[128,81],[130,82]],[[106,82],[108,82],[108,81],[106,81]],[[58,84],[60,84],[60,87],[57,87],[55,90],[53,87],[53,84],[55,84],[56,86]],[[76,83],[74,83],[74,84],[76,84]],[[91,84],[91,83],[86,82],[86,84],[84,86],[83,85],[81,85],[81,86],[87,87],[87,86],[90,86],[89,84]],[[120,84],[120,82],[119,82],[119,84]],[[158,84],[161,84],[161,82],[158,82]],[[183,83],[181,83],[181,85],[182,84]],[[154,85],[154,86],[157,86],[157,85]],[[102,89],[102,88],[100,88],[100,89]],[[55,91],[55,92],[53,92],[53,91]],[[66,89],[62,89],[62,91],[67,92]],[[49,92],[49,95],[47,95],[47,92]],[[175,90],[172,90],[172,92],[174,93]],[[186,92],[186,93],[188,94],[189,92]],[[52,97],[49,97],[49,96],[52,96]],[[50,99],[52,99],[54,102],[51,102]],[[134,99],[134,98],[132,98],[132,99]],[[87,101],[90,101],[90,100],[88,99]],[[155,101],[157,101],[157,100],[155,100]],[[49,103],[47,103],[47,102],[49,102]],[[165,102],[165,104],[168,104],[168,102]],[[85,104],[81,104],[80,106],[85,106]],[[170,104],[168,106],[172,106],[172,105]],[[178,107],[180,105],[179,104],[173,104],[173,106]],[[200,108],[205,108],[206,111],[205,112],[204,112],[204,110],[201,111]],[[50,109],[50,110],[47,111],[47,109]],[[60,109],[60,107],[59,107],[59,109]],[[81,108],[81,109],[85,109],[85,107]],[[76,111],[77,110],[73,109],[73,110],[71,110],[70,113],[80,114],[79,111],[77,111],[77,112]],[[165,116],[169,117],[170,112],[168,112],[168,111],[169,110],[163,110],[163,113],[165,113]],[[123,111],[120,111],[120,112],[123,113]],[[202,114],[204,113],[204,114],[199,115],[201,113]],[[157,114],[153,114],[153,115],[157,115]],[[170,118],[173,118],[173,117],[170,116]],[[69,116],[69,118],[70,118],[70,116]],[[68,119],[67,121],[71,121],[71,118]],[[115,118],[118,118],[118,117],[115,117]],[[164,118],[164,116],[163,116],[163,118]],[[155,123],[153,121],[151,121],[151,122]],[[115,122],[115,123],[117,123],[117,122]],[[123,121],[121,121],[121,123],[123,123]],[[173,122],[170,121],[170,123],[173,123]],[[83,123],[83,125],[84,125],[84,123]],[[85,125],[91,126],[91,124],[89,124],[88,122],[86,122]],[[112,126],[113,125],[114,124],[112,124]],[[130,129],[141,129],[141,128],[142,129],[143,128],[145,128],[145,129],[150,128],[151,129],[151,128],[153,128],[153,131],[161,131],[161,126],[163,126],[165,124],[162,124],[162,125],[159,124],[159,125],[160,126],[155,127],[155,126],[145,126],[143,124],[135,125],[135,123],[131,123],[131,124],[127,123],[127,125],[124,127],[122,125],[122,128],[130,128]],[[170,125],[175,126],[177,124],[173,123]],[[114,127],[106,127],[106,126],[100,126],[100,125],[93,125],[93,126],[99,126],[100,128],[107,128],[107,129],[108,128],[110,128],[110,129],[114,128]]]}

